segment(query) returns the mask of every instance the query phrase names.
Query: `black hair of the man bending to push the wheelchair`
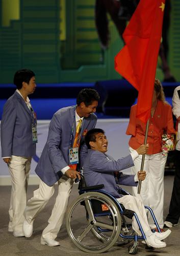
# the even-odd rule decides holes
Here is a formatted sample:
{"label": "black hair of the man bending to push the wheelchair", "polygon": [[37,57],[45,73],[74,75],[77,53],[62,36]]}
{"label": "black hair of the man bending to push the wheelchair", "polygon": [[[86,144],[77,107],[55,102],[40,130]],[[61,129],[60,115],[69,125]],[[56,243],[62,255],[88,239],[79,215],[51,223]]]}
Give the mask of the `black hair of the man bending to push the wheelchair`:
{"label": "black hair of the man bending to push the wheelchair", "polygon": [[85,88],[79,92],[76,103],[79,106],[81,102],[84,102],[86,106],[89,106],[94,100],[99,100],[98,92],[94,89]]}

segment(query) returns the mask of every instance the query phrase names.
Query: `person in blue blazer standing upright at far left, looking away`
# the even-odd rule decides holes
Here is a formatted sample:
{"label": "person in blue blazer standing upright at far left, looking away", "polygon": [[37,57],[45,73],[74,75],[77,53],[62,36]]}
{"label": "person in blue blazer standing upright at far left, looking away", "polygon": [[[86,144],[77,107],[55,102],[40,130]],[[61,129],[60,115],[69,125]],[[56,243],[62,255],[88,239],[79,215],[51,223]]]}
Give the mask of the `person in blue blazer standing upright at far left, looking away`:
{"label": "person in blue blazer standing upright at far left, looking away", "polygon": [[36,88],[34,72],[26,69],[17,71],[14,84],[17,90],[6,101],[3,109],[1,146],[2,157],[8,164],[12,179],[8,230],[13,231],[15,237],[22,237],[26,190],[37,142],[36,114],[28,98]]}

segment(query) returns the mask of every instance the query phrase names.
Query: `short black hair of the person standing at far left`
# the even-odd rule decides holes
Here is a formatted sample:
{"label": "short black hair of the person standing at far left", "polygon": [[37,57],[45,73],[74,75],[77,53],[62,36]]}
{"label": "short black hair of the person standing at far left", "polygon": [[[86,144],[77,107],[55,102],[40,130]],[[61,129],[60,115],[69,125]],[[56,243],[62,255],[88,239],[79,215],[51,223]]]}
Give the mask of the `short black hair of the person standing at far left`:
{"label": "short black hair of the person standing at far left", "polygon": [[22,82],[29,83],[33,76],[35,76],[35,73],[32,70],[29,70],[29,69],[18,70],[14,74],[14,84],[19,90],[22,88]]}

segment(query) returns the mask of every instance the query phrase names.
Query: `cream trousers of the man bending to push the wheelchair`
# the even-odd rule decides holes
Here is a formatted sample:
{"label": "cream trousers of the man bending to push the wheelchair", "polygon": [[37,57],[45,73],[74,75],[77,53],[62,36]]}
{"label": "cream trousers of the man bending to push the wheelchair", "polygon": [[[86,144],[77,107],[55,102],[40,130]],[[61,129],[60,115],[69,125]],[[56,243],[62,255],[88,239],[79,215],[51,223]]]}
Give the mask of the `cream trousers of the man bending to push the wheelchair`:
{"label": "cream trousers of the man bending to push the wheelchair", "polygon": [[[42,238],[56,239],[63,223],[72,185],[73,180],[65,175],[58,181],[58,195],[52,215],[48,219],[48,225],[42,232]],[[28,201],[24,211],[25,219],[29,223],[34,221],[39,212],[45,207],[48,200],[53,196],[54,191],[55,185],[48,186],[42,180],[40,181],[39,188],[34,191],[34,196]]]}

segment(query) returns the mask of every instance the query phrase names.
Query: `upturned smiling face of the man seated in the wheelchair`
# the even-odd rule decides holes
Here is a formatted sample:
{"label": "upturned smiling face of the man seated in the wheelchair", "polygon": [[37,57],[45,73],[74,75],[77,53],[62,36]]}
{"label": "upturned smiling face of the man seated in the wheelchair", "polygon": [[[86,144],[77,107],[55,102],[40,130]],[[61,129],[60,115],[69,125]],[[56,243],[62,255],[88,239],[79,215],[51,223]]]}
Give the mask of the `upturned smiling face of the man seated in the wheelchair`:
{"label": "upturned smiling face of the man seated in the wheelchair", "polygon": [[90,142],[90,146],[92,150],[97,150],[102,153],[106,153],[108,151],[108,140],[106,138],[106,135],[103,133],[97,133],[95,134],[96,141]]}

